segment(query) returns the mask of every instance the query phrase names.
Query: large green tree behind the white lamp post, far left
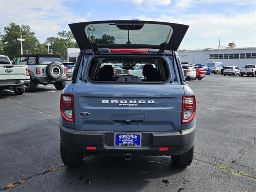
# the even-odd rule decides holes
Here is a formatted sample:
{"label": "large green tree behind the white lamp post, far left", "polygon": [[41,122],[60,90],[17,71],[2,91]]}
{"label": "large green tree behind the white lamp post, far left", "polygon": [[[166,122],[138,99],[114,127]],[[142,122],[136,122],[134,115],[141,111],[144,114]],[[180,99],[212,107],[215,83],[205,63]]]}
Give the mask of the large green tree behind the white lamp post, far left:
{"label": "large green tree behind the white lamp post, far left", "polygon": [[[35,33],[31,31],[31,27],[22,24],[17,25],[10,23],[9,26],[4,27],[4,34],[1,34],[1,54],[7,55],[9,58],[14,58],[15,55],[20,55],[20,29],[22,32],[22,38],[25,41],[22,42],[23,50],[29,50],[29,53],[47,53],[47,48],[40,44],[36,39]],[[25,52],[23,52],[25,54]]]}

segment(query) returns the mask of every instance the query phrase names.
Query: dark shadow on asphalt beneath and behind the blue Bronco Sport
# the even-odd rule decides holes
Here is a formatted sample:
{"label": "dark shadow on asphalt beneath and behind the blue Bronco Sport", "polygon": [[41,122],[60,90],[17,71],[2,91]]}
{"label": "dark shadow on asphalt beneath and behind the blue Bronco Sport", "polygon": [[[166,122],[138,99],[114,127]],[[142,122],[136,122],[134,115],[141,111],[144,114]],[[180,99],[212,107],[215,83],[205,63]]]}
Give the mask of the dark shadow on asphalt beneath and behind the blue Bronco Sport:
{"label": "dark shadow on asphalt beneath and behind the blue Bronco Sport", "polygon": [[167,156],[132,157],[131,161],[123,157],[90,156],[80,166],[66,166],[59,176],[66,190],[140,191],[150,180],[159,189],[166,187],[175,182],[166,178],[184,169],[172,166]]}

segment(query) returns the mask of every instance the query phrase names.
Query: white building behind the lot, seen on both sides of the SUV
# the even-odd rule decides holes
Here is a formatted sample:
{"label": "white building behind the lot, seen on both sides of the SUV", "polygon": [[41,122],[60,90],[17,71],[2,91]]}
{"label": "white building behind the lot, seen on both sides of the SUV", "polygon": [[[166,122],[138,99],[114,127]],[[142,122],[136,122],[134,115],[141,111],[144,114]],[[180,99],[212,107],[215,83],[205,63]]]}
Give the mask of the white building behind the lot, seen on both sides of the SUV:
{"label": "white building behind the lot, seen on both sides of the SUV", "polygon": [[[68,62],[76,62],[80,49],[68,48]],[[222,62],[224,66],[243,67],[246,64],[256,64],[256,47],[236,48],[235,43],[218,49],[178,50],[182,64],[202,64],[208,61]]]}

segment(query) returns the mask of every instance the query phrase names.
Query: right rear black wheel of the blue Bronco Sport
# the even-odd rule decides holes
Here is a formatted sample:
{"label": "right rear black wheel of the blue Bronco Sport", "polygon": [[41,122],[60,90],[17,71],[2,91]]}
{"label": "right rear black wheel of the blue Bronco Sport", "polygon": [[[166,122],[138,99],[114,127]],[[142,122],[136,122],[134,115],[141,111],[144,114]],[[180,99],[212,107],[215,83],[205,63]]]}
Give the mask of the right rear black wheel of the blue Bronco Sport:
{"label": "right rear black wheel of the blue Bronco Sport", "polygon": [[194,145],[189,151],[187,151],[184,154],[177,155],[177,156],[171,155],[172,164],[180,167],[189,166],[192,163],[193,156],[194,156]]}

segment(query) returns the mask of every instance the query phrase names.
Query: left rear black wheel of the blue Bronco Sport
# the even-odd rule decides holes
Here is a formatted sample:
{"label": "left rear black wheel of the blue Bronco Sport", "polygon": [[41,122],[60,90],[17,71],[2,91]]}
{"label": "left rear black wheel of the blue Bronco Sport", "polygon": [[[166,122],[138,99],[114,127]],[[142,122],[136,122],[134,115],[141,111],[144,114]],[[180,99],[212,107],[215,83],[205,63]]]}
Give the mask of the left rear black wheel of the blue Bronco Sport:
{"label": "left rear black wheel of the blue Bronco Sport", "polygon": [[74,154],[66,150],[62,144],[60,143],[60,156],[61,160],[65,165],[79,165],[81,164],[84,155],[82,154]]}

